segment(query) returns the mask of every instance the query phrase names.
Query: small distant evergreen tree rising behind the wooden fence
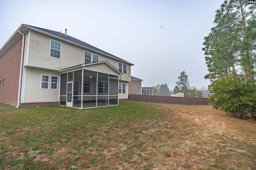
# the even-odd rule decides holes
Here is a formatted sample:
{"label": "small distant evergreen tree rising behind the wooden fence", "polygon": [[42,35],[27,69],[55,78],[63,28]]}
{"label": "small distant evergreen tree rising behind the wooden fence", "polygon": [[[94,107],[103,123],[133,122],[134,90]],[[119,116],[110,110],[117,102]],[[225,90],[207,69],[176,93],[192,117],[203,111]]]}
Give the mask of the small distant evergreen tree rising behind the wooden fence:
{"label": "small distant evergreen tree rising behind the wooden fence", "polygon": [[173,92],[182,92],[184,97],[189,97],[189,81],[188,75],[186,75],[185,71],[180,72],[180,76],[178,77],[176,84],[177,85],[174,87]]}

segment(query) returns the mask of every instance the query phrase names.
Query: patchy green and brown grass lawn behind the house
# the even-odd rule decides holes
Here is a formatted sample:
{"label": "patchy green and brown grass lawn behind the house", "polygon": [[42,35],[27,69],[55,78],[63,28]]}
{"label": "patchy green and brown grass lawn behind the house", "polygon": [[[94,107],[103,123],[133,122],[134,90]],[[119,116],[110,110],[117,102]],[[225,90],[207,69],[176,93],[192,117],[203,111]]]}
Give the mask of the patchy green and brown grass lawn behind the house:
{"label": "patchy green and brown grass lawn behind the house", "polygon": [[0,103],[0,169],[255,170],[256,121],[212,106]]}

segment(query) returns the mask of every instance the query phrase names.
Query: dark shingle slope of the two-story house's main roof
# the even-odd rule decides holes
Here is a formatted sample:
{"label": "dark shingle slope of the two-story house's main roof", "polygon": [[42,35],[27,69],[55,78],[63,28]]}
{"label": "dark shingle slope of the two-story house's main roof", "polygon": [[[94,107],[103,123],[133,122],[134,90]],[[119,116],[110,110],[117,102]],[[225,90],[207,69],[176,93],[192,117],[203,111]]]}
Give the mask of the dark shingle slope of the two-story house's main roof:
{"label": "dark shingle slope of the two-story house's main roof", "polygon": [[[26,25],[26,24],[24,24],[24,25]],[[98,49],[98,48],[96,48],[96,47],[94,47],[94,46],[92,46],[92,45],[90,45],[90,44],[88,44],[88,43],[85,43],[85,42],[79,40],[79,39],[76,39],[76,38],[71,37],[71,36],[69,36],[69,35],[65,35],[64,33],[60,33],[60,32],[58,32],[58,31],[52,31],[52,30],[44,29],[44,28],[40,28],[40,27],[35,27],[35,26],[32,26],[32,25],[27,25],[27,26],[30,26],[30,27],[39,29],[39,30],[44,31],[44,32],[46,32],[46,33],[50,33],[50,34],[52,34],[52,35],[55,35],[55,36],[64,38],[64,39],[69,40],[69,41],[72,41],[72,42],[74,42],[74,43],[83,45],[84,47],[87,47],[87,48],[90,48],[90,49],[99,51],[99,52],[104,53],[104,54],[106,54],[106,55],[110,55],[110,56],[112,56],[112,57],[115,57],[115,58],[117,58],[117,59],[120,59],[119,57],[116,57],[116,56],[114,56],[114,55],[112,55],[112,54],[110,54],[110,53],[107,53],[106,51],[103,51],[103,50],[101,50],[101,49]],[[123,59],[121,59],[121,60],[123,60]],[[125,61],[125,60],[123,60],[123,61]],[[128,61],[126,61],[126,62],[128,62]],[[129,62],[128,62],[128,63],[129,63]]]}

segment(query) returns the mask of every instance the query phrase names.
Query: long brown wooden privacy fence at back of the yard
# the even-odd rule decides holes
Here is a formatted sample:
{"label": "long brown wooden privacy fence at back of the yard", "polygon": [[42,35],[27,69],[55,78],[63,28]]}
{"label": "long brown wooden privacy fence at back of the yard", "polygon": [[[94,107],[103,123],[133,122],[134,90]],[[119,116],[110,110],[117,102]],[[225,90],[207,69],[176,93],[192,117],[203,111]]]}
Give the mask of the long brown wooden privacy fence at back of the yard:
{"label": "long brown wooden privacy fence at back of the yard", "polygon": [[172,96],[150,96],[129,94],[129,100],[136,102],[170,103],[187,105],[208,105],[208,98],[181,98]]}

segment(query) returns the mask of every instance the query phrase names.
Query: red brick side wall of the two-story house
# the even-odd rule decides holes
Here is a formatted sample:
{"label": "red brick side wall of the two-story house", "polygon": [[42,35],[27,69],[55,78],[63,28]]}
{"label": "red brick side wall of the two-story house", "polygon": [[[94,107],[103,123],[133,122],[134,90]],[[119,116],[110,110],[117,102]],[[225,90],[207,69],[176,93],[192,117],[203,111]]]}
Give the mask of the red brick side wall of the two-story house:
{"label": "red brick side wall of the two-story house", "polygon": [[20,78],[20,57],[22,52],[22,37],[0,57],[0,102],[17,106]]}

